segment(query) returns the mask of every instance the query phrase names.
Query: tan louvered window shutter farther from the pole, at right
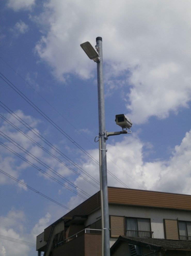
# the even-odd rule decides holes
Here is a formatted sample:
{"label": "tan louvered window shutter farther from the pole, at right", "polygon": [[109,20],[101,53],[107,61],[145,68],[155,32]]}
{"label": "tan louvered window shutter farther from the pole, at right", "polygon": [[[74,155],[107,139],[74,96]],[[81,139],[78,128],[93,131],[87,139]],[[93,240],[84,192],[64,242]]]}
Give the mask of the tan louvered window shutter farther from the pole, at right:
{"label": "tan louvered window shutter farther from the pole, at right", "polygon": [[166,239],[179,240],[178,221],[165,219],[164,224],[165,224]]}

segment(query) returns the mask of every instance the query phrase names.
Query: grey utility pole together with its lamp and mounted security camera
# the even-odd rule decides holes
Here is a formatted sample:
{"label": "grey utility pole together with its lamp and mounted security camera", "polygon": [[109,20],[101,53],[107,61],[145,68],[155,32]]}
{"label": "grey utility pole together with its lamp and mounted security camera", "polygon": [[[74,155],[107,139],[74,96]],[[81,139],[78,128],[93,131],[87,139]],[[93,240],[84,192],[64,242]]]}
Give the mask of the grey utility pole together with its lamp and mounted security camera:
{"label": "grey utility pole together with its lamp and mounted security camera", "polygon": [[[104,75],[102,38],[96,38],[95,49],[90,42],[80,45],[87,56],[97,63],[98,75],[98,114],[99,114],[99,164],[100,164],[100,197],[101,197],[101,228],[102,228],[102,256],[110,256],[109,206],[107,188],[107,159],[106,140],[109,136],[131,133],[131,120],[124,114],[115,116],[115,122],[122,128],[120,132],[107,132],[105,129],[105,103],[104,103]],[[124,130],[125,129],[125,130]],[[127,131],[129,129],[130,132]],[[96,138],[95,137],[95,138]],[[97,141],[95,141],[97,142]]]}

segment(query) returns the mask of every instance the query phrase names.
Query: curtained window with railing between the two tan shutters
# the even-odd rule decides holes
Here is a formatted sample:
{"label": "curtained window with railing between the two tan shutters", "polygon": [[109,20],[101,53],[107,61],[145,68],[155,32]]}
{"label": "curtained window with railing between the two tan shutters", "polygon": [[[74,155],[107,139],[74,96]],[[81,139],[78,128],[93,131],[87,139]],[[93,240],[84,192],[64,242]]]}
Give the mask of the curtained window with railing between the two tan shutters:
{"label": "curtained window with railing between the two tan shutters", "polygon": [[128,237],[152,237],[150,219],[125,218],[125,233]]}

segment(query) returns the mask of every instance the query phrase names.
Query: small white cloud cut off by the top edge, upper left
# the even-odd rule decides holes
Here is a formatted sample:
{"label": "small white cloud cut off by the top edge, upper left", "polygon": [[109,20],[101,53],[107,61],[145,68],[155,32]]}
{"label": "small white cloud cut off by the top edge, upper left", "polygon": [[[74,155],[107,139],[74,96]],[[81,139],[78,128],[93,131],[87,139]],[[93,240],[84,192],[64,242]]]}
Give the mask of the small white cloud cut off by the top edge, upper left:
{"label": "small white cloud cut off by the top edge, upper left", "polygon": [[7,6],[14,11],[21,9],[31,10],[31,7],[35,4],[35,0],[8,0]]}

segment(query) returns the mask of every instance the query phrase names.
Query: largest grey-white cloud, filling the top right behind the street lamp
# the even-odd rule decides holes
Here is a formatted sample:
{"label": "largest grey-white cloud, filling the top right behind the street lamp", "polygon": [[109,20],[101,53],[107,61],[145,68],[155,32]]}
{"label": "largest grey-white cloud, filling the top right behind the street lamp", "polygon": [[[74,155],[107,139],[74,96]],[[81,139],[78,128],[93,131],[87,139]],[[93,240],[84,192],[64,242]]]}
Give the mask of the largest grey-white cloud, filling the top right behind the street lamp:
{"label": "largest grey-white cloud, filling the top right behind the street lamp", "polygon": [[111,93],[123,87],[134,123],[152,115],[165,118],[170,111],[187,107],[191,99],[189,0],[99,0],[96,4],[51,0],[44,7],[38,21],[45,29],[36,52],[58,79],[64,81],[70,74],[90,78],[96,67],[79,44],[90,41],[94,46],[95,37],[102,36],[106,88]]}

